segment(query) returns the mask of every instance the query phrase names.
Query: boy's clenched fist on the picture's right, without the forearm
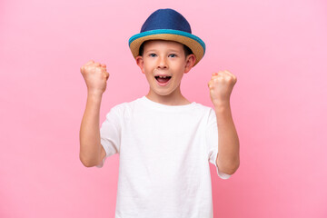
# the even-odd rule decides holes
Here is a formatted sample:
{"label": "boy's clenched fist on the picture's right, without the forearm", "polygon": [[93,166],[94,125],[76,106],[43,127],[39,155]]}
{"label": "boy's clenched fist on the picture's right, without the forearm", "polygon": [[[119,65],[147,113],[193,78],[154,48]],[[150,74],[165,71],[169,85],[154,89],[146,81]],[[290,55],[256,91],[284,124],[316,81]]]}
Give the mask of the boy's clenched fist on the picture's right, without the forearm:
{"label": "boy's clenched fist on the picture's right, without the forearm", "polygon": [[237,78],[229,71],[213,73],[208,83],[213,104],[229,104],[233,86]]}

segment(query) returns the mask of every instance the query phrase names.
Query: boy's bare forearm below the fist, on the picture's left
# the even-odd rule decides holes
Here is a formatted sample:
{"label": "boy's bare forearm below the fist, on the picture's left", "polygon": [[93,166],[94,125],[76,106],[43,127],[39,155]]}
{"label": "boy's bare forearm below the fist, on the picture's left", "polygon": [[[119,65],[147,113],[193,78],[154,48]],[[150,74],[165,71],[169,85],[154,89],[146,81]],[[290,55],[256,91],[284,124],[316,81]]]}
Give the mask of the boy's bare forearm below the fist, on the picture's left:
{"label": "boy's bare forearm below the fist, on the picture's left", "polygon": [[80,129],[80,160],[90,167],[98,163],[101,155],[99,114],[102,94],[88,93]]}

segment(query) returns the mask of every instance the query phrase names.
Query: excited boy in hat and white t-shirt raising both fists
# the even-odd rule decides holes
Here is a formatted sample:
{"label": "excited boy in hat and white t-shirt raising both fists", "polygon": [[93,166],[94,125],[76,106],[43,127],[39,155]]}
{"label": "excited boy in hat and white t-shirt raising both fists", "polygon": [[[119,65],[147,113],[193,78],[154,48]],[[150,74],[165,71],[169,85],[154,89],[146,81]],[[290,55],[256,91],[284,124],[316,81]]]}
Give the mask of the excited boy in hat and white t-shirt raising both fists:
{"label": "excited boy in hat and white t-shirt raising both fists", "polygon": [[230,107],[236,77],[213,74],[208,86],[214,110],[183,96],[183,74],[202,59],[205,45],[172,9],[150,15],[129,44],[149,93],[114,106],[99,129],[109,74],[105,64],[84,64],[88,95],[80,159],[87,167],[102,167],[107,157],[120,155],[115,217],[213,217],[209,162],[223,179],[240,164]]}

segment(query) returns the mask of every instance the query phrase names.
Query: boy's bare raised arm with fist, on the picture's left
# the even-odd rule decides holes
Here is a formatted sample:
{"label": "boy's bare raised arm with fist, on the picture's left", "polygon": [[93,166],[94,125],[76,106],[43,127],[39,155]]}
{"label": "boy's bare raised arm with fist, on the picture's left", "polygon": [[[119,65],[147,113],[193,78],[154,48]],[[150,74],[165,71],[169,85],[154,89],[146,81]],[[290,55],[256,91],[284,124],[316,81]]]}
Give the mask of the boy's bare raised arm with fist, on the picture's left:
{"label": "boy's bare raised arm with fist, on the picture's left", "polygon": [[80,160],[86,167],[100,163],[105,155],[101,145],[99,114],[109,74],[105,64],[89,61],[81,67],[87,85],[87,101],[80,128]]}

